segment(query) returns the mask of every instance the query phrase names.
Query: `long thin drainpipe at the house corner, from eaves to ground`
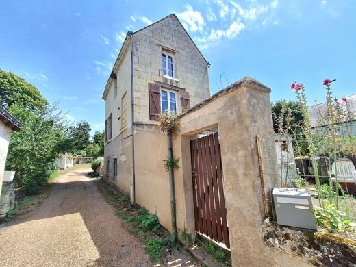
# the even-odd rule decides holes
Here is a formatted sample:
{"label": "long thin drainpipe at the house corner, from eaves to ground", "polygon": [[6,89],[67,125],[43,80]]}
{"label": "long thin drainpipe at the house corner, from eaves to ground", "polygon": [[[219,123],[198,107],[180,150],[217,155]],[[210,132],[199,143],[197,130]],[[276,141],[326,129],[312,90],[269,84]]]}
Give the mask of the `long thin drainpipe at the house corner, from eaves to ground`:
{"label": "long thin drainpipe at the house corner, from eaves to ground", "polygon": [[133,42],[132,42],[132,32],[127,33],[130,36],[130,52],[131,52],[131,140],[132,140],[132,151],[131,151],[131,162],[132,162],[132,176],[131,176],[131,192],[130,201],[131,204],[135,203],[135,110],[133,105]]}

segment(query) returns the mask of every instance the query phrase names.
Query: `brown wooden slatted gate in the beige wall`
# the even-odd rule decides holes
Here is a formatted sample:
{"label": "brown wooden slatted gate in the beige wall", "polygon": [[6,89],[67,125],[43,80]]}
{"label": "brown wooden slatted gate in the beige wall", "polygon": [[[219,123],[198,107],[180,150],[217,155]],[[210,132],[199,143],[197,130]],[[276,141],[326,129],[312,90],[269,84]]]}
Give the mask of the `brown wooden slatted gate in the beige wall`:
{"label": "brown wooden slatted gate in the beige wall", "polygon": [[190,141],[195,229],[228,248],[229,227],[218,133]]}

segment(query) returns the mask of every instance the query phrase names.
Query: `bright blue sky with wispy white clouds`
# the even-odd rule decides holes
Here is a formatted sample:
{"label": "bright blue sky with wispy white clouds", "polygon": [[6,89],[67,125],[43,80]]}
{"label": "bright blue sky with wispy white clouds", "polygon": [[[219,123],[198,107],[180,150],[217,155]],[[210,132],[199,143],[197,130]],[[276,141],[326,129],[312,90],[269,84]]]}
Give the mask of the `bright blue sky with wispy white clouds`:
{"label": "bright blue sky with wispy white clouds", "polygon": [[295,99],[356,93],[356,1],[1,1],[0,68],[24,77],[73,120],[104,127],[101,99],[128,30],[175,13],[212,64],[212,94],[245,76]]}

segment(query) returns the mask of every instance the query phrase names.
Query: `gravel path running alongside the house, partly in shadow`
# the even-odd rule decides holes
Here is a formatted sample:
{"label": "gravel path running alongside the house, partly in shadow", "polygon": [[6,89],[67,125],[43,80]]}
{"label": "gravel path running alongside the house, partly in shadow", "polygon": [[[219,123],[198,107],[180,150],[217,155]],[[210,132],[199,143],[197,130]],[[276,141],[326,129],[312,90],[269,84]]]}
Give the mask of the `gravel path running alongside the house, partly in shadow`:
{"label": "gravel path running alongside the house, partly in shadow", "polygon": [[0,229],[0,266],[152,266],[89,171],[58,177],[35,212]]}

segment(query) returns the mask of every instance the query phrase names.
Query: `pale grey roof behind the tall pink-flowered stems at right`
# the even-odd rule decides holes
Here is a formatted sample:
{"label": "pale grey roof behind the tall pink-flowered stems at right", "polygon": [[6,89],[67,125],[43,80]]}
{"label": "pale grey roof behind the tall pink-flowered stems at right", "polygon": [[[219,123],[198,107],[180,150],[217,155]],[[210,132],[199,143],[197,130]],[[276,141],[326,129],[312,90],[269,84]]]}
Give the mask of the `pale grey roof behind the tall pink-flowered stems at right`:
{"label": "pale grey roof behind the tall pink-flowered stems at right", "polygon": [[[347,107],[343,99],[346,99],[346,103],[350,108],[350,111],[355,115],[356,118],[356,94],[352,94],[351,96],[337,99],[337,101],[340,103],[340,107],[342,108],[342,110],[344,110],[344,112],[347,112]],[[320,116],[326,116],[327,114],[327,102],[320,103],[317,105],[311,105],[310,107],[308,107],[308,111],[309,111],[310,121],[312,123],[312,128],[322,126],[320,124],[318,125],[318,123],[319,123]]]}

